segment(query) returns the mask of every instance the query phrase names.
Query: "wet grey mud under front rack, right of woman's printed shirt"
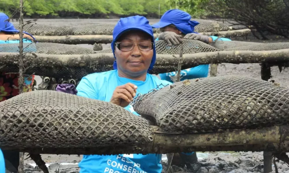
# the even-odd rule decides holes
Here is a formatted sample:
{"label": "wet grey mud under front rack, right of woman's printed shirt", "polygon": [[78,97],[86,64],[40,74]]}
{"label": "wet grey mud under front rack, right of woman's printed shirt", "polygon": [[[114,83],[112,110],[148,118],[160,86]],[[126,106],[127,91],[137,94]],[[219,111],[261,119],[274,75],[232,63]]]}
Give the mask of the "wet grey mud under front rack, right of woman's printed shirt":
{"label": "wet grey mud under front rack, right of woman's printed shirt", "polygon": [[[238,156],[209,154],[208,158],[191,164],[190,168],[171,165],[168,171],[168,163],[163,162],[162,173],[263,173],[263,152],[240,152]],[[279,172],[289,173],[289,167],[283,161],[276,160]],[[275,168],[272,166],[272,172]]]}

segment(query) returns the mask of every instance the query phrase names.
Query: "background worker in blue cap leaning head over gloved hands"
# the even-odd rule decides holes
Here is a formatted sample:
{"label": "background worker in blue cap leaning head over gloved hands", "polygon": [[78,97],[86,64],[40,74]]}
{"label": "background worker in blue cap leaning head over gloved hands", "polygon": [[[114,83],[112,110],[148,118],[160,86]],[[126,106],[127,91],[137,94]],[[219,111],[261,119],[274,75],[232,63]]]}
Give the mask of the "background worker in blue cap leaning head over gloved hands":
{"label": "background worker in blue cap leaning head over gloved hands", "polygon": [[[199,22],[191,20],[190,14],[182,10],[168,10],[166,11],[159,22],[152,25],[153,28],[160,28],[162,33],[156,40],[164,40],[167,42],[168,46],[176,46],[182,42],[182,38],[199,40],[204,43],[211,43],[215,41],[218,37],[216,36],[206,36],[201,35],[194,31],[194,27],[197,26]],[[228,38],[219,38],[223,41],[231,41]],[[209,64],[198,65],[189,69],[181,70],[181,80],[194,79],[194,78],[204,78],[208,76]],[[169,72],[159,74],[160,78],[170,82],[175,82],[176,72]]]}

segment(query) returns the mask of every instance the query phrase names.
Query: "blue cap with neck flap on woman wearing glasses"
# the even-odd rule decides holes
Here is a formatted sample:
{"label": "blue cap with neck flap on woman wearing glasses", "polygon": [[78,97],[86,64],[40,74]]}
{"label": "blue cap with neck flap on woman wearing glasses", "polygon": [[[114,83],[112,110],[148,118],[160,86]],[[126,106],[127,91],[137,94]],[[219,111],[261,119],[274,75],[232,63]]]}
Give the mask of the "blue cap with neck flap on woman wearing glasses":
{"label": "blue cap with neck flap on woman wearing glasses", "polygon": [[[126,17],[126,18],[121,18],[117,24],[115,25],[114,29],[113,29],[113,33],[112,33],[112,37],[113,37],[113,41],[111,43],[111,48],[112,48],[112,52],[113,52],[113,56],[115,57],[114,54],[114,48],[115,45],[114,43],[116,42],[116,40],[125,32],[127,31],[131,31],[131,30],[138,30],[138,31],[143,31],[147,34],[149,34],[152,37],[153,40],[153,58],[151,60],[151,65],[149,66],[149,70],[153,69],[153,65],[155,65],[155,57],[156,57],[156,53],[155,53],[155,39],[153,37],[153,28],[151,27],[151,25],[149,25],[149,21],[147,20],[147,18],[143,17],[143,16],[130,16],[130,17]],[[113,68],[117,69],[117,64],[116,61],[114,61],[113,63]]]}

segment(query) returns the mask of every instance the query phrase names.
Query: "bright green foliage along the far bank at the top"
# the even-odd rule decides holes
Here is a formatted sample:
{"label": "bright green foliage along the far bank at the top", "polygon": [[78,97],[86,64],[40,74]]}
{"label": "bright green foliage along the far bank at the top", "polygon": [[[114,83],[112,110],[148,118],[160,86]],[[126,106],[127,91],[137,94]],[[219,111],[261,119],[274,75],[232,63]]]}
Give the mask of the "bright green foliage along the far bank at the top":
{"label": "bright green foliage along the far bank at the top", "polygon": [[[171,8],[189,12],[200,18],[207,13],[200,4],[207,0],[26,0],[25,17],[90,17],[143,15],[158,18]],[[0,12],[11,15],[19,8],[19,0],[0,0]]]}

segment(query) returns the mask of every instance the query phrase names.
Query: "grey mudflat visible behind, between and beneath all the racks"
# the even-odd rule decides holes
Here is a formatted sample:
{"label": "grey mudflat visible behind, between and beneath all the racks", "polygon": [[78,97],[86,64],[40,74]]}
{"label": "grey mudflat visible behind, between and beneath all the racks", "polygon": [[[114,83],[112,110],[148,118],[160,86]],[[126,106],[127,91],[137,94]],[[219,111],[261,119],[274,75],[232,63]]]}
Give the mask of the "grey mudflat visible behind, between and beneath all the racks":
{"label": "grey mudflat visible behind, between and beneath all the racks", "polygon": [[[151,23],[157,22],[157,19],[149,19]],[[39,19],[37,23],[57,26],[74,26],[89,25],[92,23],[116,23],[118,19]],[[244,27],[239,26],[242,29]],[[271,40],[257,40],[253,35],[242,38],[233,38],[232,40],[247,42],[288,42],[276,35],[270,36]],[[93,45],[81,44],[79,46],[93,48]],[[110,48],[110,44],[103,44],[103,49]],[[277,66],[271,67],[272,79],[280,83],[280,86],[289,88],[289,69],[283,67],[279,72]],[[218,76],[248,76],[253,78],[261,78],[261,69],[259,64],[229,64],[223,63],[218,65]],[[37,83],[40,83],[39,76],[36,77]],[[199,153],[198,153],[199,154]],[[165,157],[165,156],[164,156]],[[199,156],[198,156],[199,157]],[[42,155],[42,159],[46,162],[49,172],[76,173],[79,172],[77,163],[82,156],[77,155]],[[69,163],[69,164],[68,164]],[[277,168],[280,173],[289,173],[289,167],[283,161],[276,161]],[[32,165],[31,165],[32,164]],[[38,173],[42,172],[34,167],[34,161],[25,160],[25,172]],[[163,172],[167,172],[167,162],[163,161]],[[247,173],[247,172],[263,172],[263,153],[262,152],[240,152],[234,154],[225,153],[207,153],[205,157],[199,158],[199,162],[192,165],[192,170],[186,170],[179,167],[171,167],[169,172],[198,172],[198,173]],[[273,172],[275,168],[272,165]]]}

